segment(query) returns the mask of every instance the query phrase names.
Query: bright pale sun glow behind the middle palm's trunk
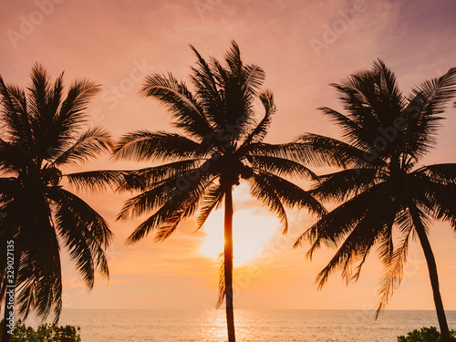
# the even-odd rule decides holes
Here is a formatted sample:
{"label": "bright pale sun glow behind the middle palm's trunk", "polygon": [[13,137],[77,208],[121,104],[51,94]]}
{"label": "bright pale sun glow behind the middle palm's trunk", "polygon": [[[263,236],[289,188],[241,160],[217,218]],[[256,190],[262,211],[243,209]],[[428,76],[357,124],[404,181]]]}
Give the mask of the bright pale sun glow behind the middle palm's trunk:
{"label": "bright pale sun glow behind the middle palm's trunk", "polygon": [[[200,253],[217,259],[223,252],[223,210],[212,212],[202,227],[206,238]],[[244,209],[234,212],[233,262],[234,267],[249,264],[275,233],[280,232],[278,219],[269,212]]]}

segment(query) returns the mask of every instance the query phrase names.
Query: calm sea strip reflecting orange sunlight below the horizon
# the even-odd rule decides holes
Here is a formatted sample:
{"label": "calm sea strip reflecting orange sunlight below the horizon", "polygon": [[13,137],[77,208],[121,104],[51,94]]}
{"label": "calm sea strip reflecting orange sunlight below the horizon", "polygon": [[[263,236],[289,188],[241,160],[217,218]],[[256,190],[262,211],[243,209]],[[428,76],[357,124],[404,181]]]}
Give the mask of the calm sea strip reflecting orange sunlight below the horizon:
{"label": "calm sea strip reflecting orange sunlight below the horizon", "polygon": [[[235,310],[239,342],[395,342],[421,326],[438,326],[433,311]],[[456,311],[448,311],[456,327]],[[60,324],[81,327],[82,342],[223,342],[223,310],[64,310]]]}

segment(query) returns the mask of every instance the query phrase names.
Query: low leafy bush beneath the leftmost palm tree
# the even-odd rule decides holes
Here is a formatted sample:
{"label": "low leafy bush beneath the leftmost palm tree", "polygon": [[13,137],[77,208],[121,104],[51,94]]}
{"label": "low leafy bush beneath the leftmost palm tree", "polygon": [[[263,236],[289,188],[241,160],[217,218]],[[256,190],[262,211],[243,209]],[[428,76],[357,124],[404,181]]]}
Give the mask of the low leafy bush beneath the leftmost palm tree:
{"label": "low leafy bush beneath the leftmost palm tree", "polygon": [[[3,326],[3,320],[1,322]],[[79,326],[42,324],[35,330],[18,320],[13,330],[12,342],[81,342]],[[0,337],[3,331],[0,329]]]}

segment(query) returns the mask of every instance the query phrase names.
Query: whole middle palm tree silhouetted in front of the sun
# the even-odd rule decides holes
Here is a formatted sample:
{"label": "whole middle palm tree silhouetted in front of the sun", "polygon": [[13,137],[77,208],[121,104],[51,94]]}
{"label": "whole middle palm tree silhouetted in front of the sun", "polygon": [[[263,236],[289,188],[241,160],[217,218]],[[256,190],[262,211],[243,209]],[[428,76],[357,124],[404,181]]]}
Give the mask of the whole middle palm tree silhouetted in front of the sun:
{"label": "whole middle palm tree silhouetted in front of the sun", "polygon": [[[192,92],[171,73],[146,78],[142,94],[159,100],[170,111],[173,125],[182,133],[138,130],[124,135],[115,149],[117,160],[168,161],[160,166],[133,171],[120,188],[139,191],[119,219],[150,216],[131,233],[133,244],[151,231],[162,241],[181,221],[200,208],[200,229],[214,208],[224,202],[224,251],[219,304],[226,298],[228,340],[233,342],[233,187],[248,181],[251,194],[275,212],[287,229],[285,206],[305,207],[322,214],[324,208],[308,192],[285,177],[312,178],[303,160],[301,144],[264,142],[275,105],[273,94],[259,90],[264,71],[244,65],[235,42],[224,65],[211,57],[206,61],[194,47]],[[256,120],[254,101],[260,99],[263,119]],[[308,160],[308,159],[306,159]],[[317,161],[316,161],[317,162]]]}

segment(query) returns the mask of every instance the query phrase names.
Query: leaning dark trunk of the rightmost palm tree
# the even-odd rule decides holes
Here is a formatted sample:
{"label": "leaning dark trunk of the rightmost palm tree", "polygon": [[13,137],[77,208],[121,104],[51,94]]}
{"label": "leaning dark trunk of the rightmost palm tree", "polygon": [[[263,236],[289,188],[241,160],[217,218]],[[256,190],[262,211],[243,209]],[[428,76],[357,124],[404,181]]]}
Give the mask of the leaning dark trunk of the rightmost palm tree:
{"label": "leaning dark trunk of the rightmost palm tree", "polygon": [[430,248],[430,242],[424,225],[418,215],[418,210],[415,206],[410,208],[411,217],[415,230],[418,233],[420,239],[421,248],[423,249],[424,256],[426,257],[426,263],[428,264],[428,271],[430,275],[430,285],[432,286],[432,293],[434,295],[435,309],[437,311],[437,318],[439,320],[441,341],[450,342],[450,330],[448,328],[447,317],[445,316],[445,310],[443,309],[443,302],[441,301],[440,288],[439,288],[439,275],[437,275],[437,264],[435,263],[434,254]]}

